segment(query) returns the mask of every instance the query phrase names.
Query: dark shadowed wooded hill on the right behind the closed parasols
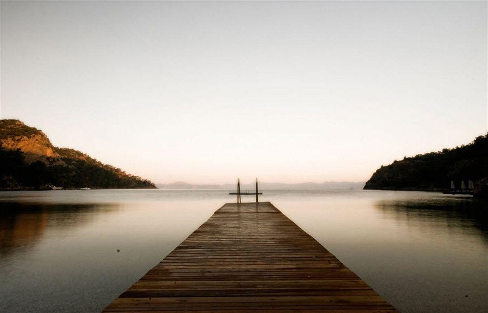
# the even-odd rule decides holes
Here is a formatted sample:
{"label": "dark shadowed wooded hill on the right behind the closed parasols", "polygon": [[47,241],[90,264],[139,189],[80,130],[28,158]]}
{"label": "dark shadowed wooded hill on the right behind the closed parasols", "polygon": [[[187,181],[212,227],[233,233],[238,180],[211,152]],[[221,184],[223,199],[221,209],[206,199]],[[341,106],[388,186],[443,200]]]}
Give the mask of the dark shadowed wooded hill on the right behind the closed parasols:
{"label": "dark shadowed wooded hill on the right behind the closed parasols", "polygon": [[461,181],[475,186],[488,177],[488,134],[477,137],[466,146],[419,154],[394,161],[374,172],[364,189],[447,190],[451,180],[455,187]]}

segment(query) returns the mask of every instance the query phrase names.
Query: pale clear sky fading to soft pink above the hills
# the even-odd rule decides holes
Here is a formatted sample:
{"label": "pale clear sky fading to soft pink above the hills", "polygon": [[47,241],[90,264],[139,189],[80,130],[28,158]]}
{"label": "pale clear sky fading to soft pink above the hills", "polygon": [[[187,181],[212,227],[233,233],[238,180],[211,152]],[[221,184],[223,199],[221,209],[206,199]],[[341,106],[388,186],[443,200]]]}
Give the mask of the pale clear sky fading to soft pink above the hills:
{"label": "pale clear sky fading to soft pink above the hills", "polygon": [[1,118],[156,183],[366,181],[488,131],[487,1],[1,1]]}

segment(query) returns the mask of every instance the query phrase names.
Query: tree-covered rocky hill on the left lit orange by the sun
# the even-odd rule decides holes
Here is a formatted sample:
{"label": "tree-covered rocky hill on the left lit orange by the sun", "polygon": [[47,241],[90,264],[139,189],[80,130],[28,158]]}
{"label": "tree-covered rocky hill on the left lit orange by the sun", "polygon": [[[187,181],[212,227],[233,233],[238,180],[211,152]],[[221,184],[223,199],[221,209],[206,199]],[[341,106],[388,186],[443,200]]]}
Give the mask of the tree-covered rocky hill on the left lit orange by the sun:
{"label": "tree-covered rocky hill on the left lit orange by the sun", "polygon": [[39,129],[0,120],[0,188],[156,188],[148,180],[68,148],[53,146]]}

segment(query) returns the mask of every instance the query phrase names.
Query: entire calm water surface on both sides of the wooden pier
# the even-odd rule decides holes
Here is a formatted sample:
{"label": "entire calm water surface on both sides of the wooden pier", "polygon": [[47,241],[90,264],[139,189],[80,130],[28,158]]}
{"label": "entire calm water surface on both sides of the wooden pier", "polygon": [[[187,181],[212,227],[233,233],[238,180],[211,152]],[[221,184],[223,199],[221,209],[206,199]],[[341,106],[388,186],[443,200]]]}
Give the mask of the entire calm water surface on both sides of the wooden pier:
{"label": "entire calm water surface on both sides of the wooden pier", "polygon": [[[407,191],[262,199],[401,312],[488,312],[486,205]],[[0,312],[100,312],[225,202],[222,190],[0,192]]]}

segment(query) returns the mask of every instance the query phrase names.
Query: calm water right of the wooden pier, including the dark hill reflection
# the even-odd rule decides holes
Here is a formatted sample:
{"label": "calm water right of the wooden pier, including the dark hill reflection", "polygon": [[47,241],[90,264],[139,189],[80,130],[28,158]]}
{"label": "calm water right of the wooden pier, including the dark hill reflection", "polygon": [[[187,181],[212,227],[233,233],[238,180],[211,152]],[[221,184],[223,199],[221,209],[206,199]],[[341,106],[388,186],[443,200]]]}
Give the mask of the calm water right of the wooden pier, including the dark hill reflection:
{"label": "calm water right of the wooden pier, including the dark hill reflection", "polygon": [[400,312],[488,312],[486,204],[405,191],[275,204]]}

